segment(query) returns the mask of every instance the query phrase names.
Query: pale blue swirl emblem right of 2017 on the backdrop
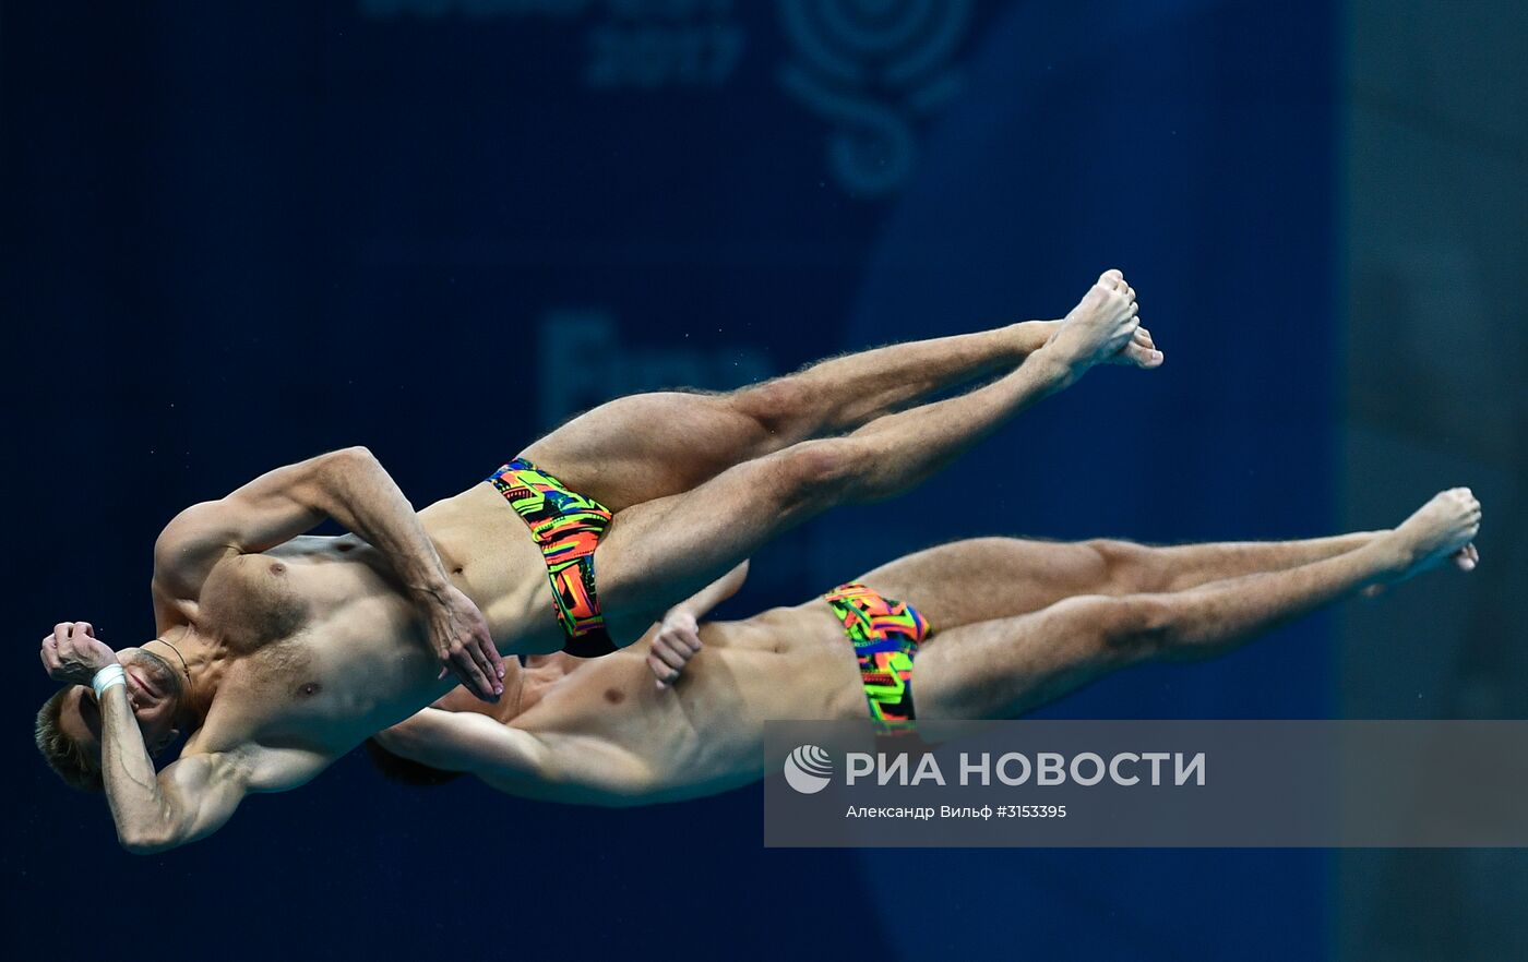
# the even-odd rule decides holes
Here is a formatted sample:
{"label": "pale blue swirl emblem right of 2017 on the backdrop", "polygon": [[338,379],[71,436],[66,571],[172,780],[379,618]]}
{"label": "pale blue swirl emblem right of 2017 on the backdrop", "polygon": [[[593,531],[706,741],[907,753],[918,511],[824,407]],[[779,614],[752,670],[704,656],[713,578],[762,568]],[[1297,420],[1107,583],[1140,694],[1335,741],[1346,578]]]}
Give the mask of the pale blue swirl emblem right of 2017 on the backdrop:
{"label": "pale blue swirl emblem right of 2017 on the backdrop", "polygon": [[912,121],[960,89],[949,66],[970,0],[782,0],[796,60],[779,81],[833,124],[828,168],[851,194],[879,197],[912,173]]}

